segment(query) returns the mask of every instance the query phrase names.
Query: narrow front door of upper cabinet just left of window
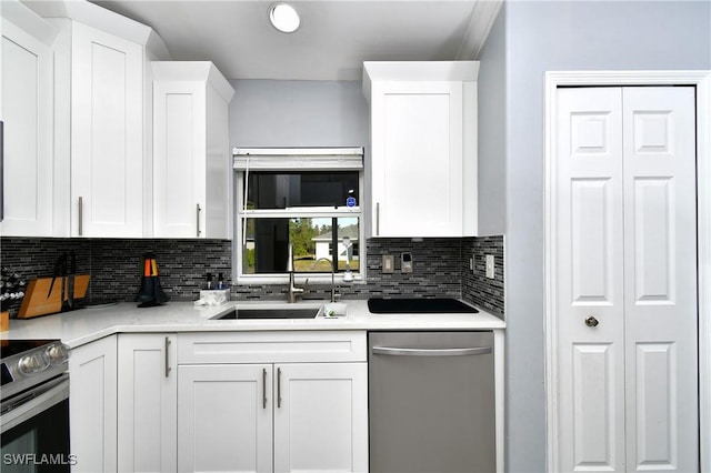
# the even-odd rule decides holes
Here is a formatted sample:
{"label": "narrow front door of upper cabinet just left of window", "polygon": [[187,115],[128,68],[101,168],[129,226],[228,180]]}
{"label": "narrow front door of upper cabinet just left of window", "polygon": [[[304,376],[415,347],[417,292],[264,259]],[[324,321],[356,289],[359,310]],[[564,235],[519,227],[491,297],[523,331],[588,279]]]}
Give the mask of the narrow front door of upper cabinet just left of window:
{"label": "narrow front door of upper cabinet just left of window", "polygon": [[153,219],[157,238],[204,236],[206,84],[153,84]]}

